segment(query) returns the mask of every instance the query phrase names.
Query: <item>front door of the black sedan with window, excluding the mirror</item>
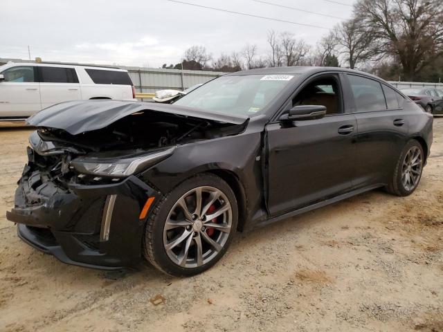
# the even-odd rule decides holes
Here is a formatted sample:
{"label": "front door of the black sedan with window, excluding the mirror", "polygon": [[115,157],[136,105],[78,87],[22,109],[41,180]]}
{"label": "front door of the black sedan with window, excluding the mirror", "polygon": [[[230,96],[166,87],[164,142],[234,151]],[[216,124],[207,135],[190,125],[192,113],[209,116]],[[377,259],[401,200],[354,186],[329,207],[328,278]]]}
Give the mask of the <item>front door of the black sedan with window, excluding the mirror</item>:
{"label": "front door of the black sedan with window, excluding the mirror", "polygon": [[268,197],[271,216],[338,196],[352,187],[356,119],[344,113],[338,75],[316,77],[292,100],[292,107],[327,107],[325,118],[266,126]]}

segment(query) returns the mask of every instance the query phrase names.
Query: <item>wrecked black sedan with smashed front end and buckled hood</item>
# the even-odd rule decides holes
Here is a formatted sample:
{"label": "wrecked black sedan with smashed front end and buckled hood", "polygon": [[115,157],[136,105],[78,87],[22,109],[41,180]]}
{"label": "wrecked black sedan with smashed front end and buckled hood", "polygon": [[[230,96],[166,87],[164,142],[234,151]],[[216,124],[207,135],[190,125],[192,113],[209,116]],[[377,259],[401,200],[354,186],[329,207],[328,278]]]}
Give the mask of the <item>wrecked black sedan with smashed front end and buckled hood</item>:
{"label": "wrecked black sedan with smashed front end and buckled hood", "polygon": [[195,275],[236,231],[385,187],[417,187],[433,118],[377,77],[266,68],[174,104],[57,104],[28,120],[28,164],[8,212],[31,246],[79,266],[145,257]]}

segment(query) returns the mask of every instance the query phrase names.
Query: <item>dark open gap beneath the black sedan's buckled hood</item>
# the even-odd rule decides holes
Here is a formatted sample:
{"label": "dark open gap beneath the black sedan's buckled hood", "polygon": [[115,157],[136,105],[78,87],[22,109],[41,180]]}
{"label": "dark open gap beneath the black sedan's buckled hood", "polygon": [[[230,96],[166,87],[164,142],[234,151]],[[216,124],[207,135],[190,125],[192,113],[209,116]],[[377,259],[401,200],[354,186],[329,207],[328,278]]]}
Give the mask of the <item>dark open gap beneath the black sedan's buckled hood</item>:
{"label": "dark open gap beneath the black sedan's buckled hood", "polygon": [[127,149],[155,149],[208,140],[241,132],[242,124],[230,124],[178,116],[156,111],[140,111],[109,126],[71,135],[63,129],[40,128],[43,140],[71,145],[85,152]]}

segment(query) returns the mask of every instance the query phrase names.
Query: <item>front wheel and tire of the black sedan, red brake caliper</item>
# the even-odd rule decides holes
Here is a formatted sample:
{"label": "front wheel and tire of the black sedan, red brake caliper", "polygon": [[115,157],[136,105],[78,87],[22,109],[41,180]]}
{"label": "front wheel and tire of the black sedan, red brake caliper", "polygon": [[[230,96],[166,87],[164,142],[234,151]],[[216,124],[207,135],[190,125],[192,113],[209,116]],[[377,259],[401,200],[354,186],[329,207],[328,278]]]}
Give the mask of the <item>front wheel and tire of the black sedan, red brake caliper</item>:
{"label": "front wheel and tire of the black sedan, red brake caliper", "polygon": [[193,176],[154,206],[143,237],[144,256],[168,275],[197,275],[224,255],[237,219],[237,200],[224,180],[213,174]]}

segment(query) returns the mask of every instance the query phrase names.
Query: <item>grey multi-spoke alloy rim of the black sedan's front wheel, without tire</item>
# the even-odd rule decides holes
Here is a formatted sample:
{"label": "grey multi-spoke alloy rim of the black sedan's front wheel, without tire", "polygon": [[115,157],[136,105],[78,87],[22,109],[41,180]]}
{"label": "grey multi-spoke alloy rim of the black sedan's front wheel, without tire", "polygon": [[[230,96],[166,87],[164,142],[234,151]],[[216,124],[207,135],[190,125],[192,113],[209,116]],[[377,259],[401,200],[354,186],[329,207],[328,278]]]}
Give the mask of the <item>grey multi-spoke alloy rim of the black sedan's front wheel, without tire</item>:
{"label": "grey multi-spoke alloy rim of the black sedan's front wheel, without tire", "polygon": [[163,228],[165,252],[183,268],[207,264],[228,241],[232,219],[232,208],[221,190],[209,186],[192,189],[168,214]]}

